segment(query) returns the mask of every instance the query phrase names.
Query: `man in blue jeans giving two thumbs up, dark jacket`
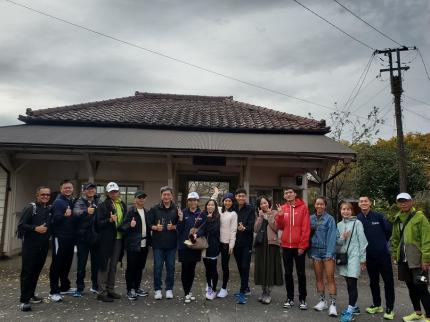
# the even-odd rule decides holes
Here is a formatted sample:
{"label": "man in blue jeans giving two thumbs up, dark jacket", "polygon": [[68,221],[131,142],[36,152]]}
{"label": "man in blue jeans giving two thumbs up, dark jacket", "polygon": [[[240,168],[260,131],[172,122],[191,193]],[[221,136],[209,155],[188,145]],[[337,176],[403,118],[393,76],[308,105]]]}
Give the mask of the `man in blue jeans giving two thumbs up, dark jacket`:
{"label": "man in blue jeans giving two thumbs up, dark jacket", "polygon": [[173,298],[175,280],[175,257],[177,247],[176,224],[178,209],[173,203],[173,190],[161,187],[161,201],[151,208],[152,251],[154,253],[154,298],[161,300],[161,275],[166,263],[166,298]]}

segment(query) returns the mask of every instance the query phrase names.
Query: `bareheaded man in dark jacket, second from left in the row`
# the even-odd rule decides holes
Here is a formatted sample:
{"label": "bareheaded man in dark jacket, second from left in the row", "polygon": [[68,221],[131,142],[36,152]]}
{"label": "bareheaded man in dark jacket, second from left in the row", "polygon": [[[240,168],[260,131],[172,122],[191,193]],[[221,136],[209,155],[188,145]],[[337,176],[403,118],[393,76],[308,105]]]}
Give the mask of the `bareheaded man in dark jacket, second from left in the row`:
{"label": "bareheaded man in dark jacket, second from left in the row", "polygon": [[[73,184],[64,180],[60,185],[60,195],[52,204],[52,262],[49,269],[51,291],[49,299],[59,302],[62,295],[73,294],[76,289],[70,288],[69,272],[72,266],[76,216],[73,215]],[[60,282],[60,285],[58,285]]]}

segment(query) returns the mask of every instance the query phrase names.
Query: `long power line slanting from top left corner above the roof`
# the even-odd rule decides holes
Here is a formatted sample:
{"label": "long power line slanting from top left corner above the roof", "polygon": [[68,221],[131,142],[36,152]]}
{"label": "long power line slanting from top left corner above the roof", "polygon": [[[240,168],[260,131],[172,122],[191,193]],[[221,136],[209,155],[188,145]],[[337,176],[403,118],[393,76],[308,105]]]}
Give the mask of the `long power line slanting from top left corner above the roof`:
{"label": "long power line slanting from top left corner above the roof", "polygon": [[[311,104],[311,105],[314,105],[314,106],[319,106],[319,107],[322,107],[322,108],[325,108],[325,109],[328,109],[328,110],[331,110],[331,111],[337,111],[337,109],[336,109],[336,108],[334,108],[334,107],[330,107],[330,106],[327,106],[327,105],[324,105],[324,104],[316,103],[316,102],[310,101],[310,100],[308,100],[308,99],[304,99],[304,98],[300,98],[300,97],[297,97],[297,96],[293,96],[293,95],[290,95],[290,94],[285,93],[285,92],[282,92],[282,91],[278,91],[278,90],[271,89],[271,88],[268,88],[268,87],[265,87],[265,86],[261,86],[261,85],[255,84],[255,83],[251,83],[251,82],[248,82],[248,81],[244,81],[244,80],[241,80],[241,79],[239,79],[239,78],[236,78],[236,77],[233,77],[233,76],[230,76],[230,75],[227,75],[227,74],[223,74],[223,73],[217,72],[217,71],[215,71],[215,70],[212,70],[212,69],[209,69],[209,68],[206,68],[206,67],[202,67],[202,66],[196,65],[196,64],[194,64],[194,63],[190,63],[190,62],[188,62],[188,61],[186,61],[186,60],[179,59],[179,58],[175,58],[175,57],[173,57],[173,56],[170,56],[170,55],[164,54],[164,53],[162,53],[162,52],[159,52],[159,51],[156,51],[156,50],[153,50],[153,49],[149,49],[149,48],[146,48],[146,47],[143,47],[143,46],[137,45],[137,44],[135,44],[135,43],[132,43],[132,42],[129,42],[129,41],[126,41],[126,40],[122,40],[122,39],[120,39],[120,38],[117,38],[117,37],[114,37],[114,36],[108,35],[108,34],[106,34],[106,33],[103,33],[103,32],[100,32],[100,31],[97,31],[97,30],[94,30],[94,29],[91,29],[91,28],[89,28],[89,27],[85,27],[85,26],[83,26],[83,25],[79,25],[79,24],[74,23],[74,22],[71,22],[71,21],[69,21],[69,20],[66,20],[66,19],[63,19],[63,18],[56,17],[56,16],[51,15],[51,14],[49,14],[49,13],[46,13],[46,12],[43,12],[43,11],[40,11],[40,10],[34,9],[34,8],[32,8],[32,7],[29,7],[29,6],[27,6],[27,5],[24,5],[24,4],[21,4],[21,3],[18,3],[18,2],[12,1],[12,0],[4,0],[4,1],[6,1],[6,2],[8,2],[8,3],[10,3],[10,4],[13,4],[13,5],[15,5],[15,6],[18,6],[18,7],[24,8],[24,9],[27,9],[27,10],[29,10],[29,11],[33,12],[33,13],[37,13],[37,14],[43,15],[43,16],[48,17],[48,18],[51,18],[51,19],[53,19],[53,20],[57,20],[57,21],[59,21],[59,22],[62,22],[62,23],[65,23],[65,24],[71,25],[71,26],[73,26],[73,27],[76,27],[76,28],[78,28],[78,29],[82,29],[82,30],[88,31],[88,32],[90,32],[90,33],[96,34],[96,35],[98,35],[98,36],[101,36],[101,37],[108,38],[108,39],[110,39],[110,40],[113,40],[113,41],[119,42],[119,43],[121,43],[121,44],[123,44],[123,45],[127,45],[127,46],[130,46],[130,47],[134,47],[134,48],[137,48],[137,49],[139,49],[139,50],[143,50],[143,51],[149,52],[149,53],[151,53],[151,54],[161,56],[161,57],[163,57],[163,58],[166,58],[166,59],[169,59],[169,60],[172,60],[172,61],[175,61],[175,62],[178,62],[178,63],[184,64],[184,65],[187,65],[187,66],[189,66],[189,67],[192,67],[192,68],[195,68],[195,69],[198,69],[198,70],[201,70],[201,71],[204,71],[204,72],[210,73],[210,74],[214,74],[214,75],[217,75],[217,76],[220,76],[220,77],[223,77],[223,78],[226,78],[226,79],[229,79],[229,80],[232,80],[232,81],[235,81],[235,82],[238,82],[238,83],[241,83],[241,84],[247,85],[247,86],[251,86],[251,87],[254,87],[254,88],[258,88],[258,89],[261,89],[261,90],[264,90],[264,91],[267,91],[267,92],[270,92],[270,93],[274,93],[274,94],[282,95],[282,96],[285,96],[285,97],[288,97],[288,98],[291,98],[291,99],[295,99],[295,100],[301,101],[301,102],[303,102],[303,103]],[[370,49],[373,49],[373,48],[371,48],[371,47],[369,47],[369,48],[370,48]],[[356,115],[356,116],[357,116],[357,117],[359,117],[359,118],[365,119],[365,117],[362,117],[362,116],[360,116],[360,115]]]}

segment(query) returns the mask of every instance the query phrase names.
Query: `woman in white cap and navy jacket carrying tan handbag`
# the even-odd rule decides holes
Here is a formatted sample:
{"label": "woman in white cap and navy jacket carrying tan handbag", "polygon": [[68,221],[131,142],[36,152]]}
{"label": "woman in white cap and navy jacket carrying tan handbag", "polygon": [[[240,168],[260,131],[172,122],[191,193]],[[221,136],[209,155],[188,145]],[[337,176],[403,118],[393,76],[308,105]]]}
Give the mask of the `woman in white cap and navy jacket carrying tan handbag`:
{"label": "woman in white cap and navy jacket carrying tan handbag", "polygon": [[[199,195],[197,192],[190,192],[187,198],[187,208],[178,211],[178,258],[182,264],[181,281],[185,293],[185,303],[190,303],[196,298],[191,293],[194,282],[197,262],[201,260],[202,251],[190,249],[185,245],[185,241],[205,235],[203,224],[206,215],[198,208]],[[190,235],[190,230],[195,229],[195,233]]]}

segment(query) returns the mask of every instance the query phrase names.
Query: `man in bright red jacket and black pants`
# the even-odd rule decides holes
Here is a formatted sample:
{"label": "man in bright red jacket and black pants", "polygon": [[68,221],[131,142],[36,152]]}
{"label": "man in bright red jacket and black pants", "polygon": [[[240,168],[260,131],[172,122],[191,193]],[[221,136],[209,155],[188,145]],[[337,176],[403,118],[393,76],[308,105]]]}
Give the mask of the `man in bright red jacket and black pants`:
{"label": "man in bright red jacket and black pants", "polygon": [[281,247],[285,270],[285,287],[287,300],[284,308],[294,306],[293,261],[296,262],[297,277],[299,280],[299,308],[307,310],[306,304],[306,274],[305,251],[309,247],[311,232],[309,210],[304,201],[297,197],[293,188],[284,189],[284,205],[278,206],[276,225],[282,230]]}

